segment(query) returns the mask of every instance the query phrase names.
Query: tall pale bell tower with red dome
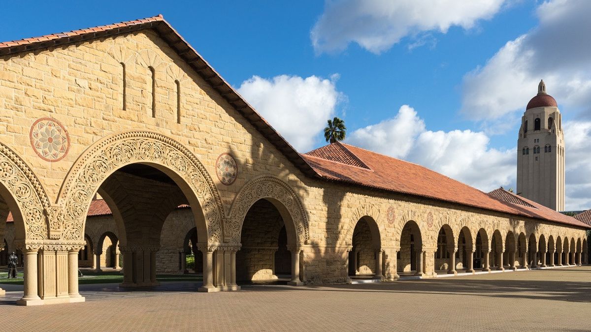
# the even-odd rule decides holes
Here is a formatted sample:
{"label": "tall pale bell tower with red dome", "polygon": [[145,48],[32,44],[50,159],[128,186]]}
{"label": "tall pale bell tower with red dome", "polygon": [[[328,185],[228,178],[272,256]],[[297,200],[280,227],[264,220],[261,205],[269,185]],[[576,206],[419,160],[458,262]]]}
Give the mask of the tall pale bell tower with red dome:
{"label": "tall pale bell tower with red dome", "polygon": [[517,193],[564,210],[564,135],[556,100],[543,80],[521,117],[517,141]]}

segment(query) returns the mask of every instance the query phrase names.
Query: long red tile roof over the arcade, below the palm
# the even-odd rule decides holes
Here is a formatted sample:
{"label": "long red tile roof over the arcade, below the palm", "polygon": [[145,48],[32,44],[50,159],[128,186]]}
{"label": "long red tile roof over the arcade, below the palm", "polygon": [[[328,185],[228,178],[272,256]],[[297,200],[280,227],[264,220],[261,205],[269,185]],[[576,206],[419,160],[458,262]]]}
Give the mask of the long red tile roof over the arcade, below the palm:
{"label": "long red tile roof over the arcade, below the palm", "polygon": [[[517,197],[505,201],[421,165],[353,147],[349,144],[341,145],[359,158],[369,169],[344,164],[341,162],[342,156],[340,154],[337,154],[333,160],[330,152],[339,151],[339,149],[330,147],[330,145],[313,151],[314,155],[322,155],[322,158],[309,154],[302,155],[314,170],[327,180],[427,197],[465,206],[516,214],[522,217],[539,218],[551,222],[587,227],[586,224],[582,224],[578,220],[525,200],[525,198]],[[522,200],[523,203],[521,205],[511,203],[511,201],[518,200]],[[533,207],[528,206],[528,204]]]}

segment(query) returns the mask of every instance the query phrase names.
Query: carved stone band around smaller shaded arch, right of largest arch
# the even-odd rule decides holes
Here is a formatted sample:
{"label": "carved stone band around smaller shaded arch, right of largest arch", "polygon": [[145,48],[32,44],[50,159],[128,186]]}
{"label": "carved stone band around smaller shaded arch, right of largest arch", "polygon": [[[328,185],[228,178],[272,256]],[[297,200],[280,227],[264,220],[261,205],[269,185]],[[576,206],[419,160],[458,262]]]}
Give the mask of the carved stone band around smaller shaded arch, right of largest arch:
{"label": "carved stone band around smaller shaded arch, right of largest arch", "polygon": [[296,244],[307,244],[310,239],[308,216],[300,198],[287,183],[271,175],[255,177],[236,195],[230,208],[229,224],[224,227],[226,242],[240,243],[246,213],[252,204],[264,198],[277,200],[287,209],[296,228]]}

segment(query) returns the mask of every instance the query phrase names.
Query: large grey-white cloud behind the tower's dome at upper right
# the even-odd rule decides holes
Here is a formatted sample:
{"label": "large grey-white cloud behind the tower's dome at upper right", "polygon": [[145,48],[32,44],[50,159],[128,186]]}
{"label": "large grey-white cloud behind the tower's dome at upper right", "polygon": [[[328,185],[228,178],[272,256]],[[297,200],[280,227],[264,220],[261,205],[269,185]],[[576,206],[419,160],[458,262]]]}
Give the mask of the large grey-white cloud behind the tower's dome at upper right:
{"label": "large grey-white cloud behind the tower's dome at upper right", "polygon": [[516,110],[544,79],[564,109],[589,116],[591,105],[591,1],[553,0],[538,6],[539,25],[506,43],[463,80],[462,112],[490,121]]}

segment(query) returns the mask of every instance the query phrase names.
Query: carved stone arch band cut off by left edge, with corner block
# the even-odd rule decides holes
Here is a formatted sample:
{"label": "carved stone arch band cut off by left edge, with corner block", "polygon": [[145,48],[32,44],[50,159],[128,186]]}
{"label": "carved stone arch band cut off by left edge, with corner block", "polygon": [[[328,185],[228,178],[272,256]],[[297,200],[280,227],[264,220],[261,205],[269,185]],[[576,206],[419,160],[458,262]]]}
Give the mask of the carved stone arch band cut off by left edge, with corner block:
{"label": "carved stone arch band cut off by left edge, with corner block", "polygon": [[[0,143],[0,191],[5,193],[15,220],[17,237],[27,240],[55,238],[59,220],[50,218],[53,208],[33,170],[12,149]],[[16,204],[16,206],[14,206]],[[15,209],[18,209],[16,211]],[[48,234],[48,229],[50,233]],[[22,234],[19,234],[22,233]]]}

